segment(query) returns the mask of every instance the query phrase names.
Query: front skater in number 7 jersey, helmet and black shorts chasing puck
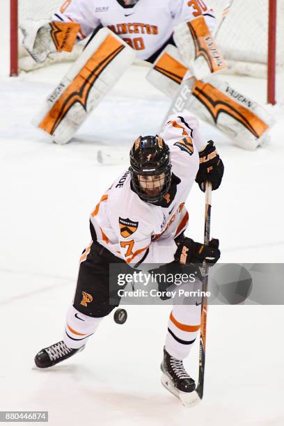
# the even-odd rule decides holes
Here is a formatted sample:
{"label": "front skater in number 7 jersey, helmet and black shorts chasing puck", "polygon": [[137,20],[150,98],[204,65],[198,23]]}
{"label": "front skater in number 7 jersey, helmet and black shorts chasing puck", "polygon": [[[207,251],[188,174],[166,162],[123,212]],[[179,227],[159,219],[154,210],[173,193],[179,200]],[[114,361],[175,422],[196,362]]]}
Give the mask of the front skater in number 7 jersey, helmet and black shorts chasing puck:
{"label": "front skater in number 7 jersey, helmet and black shorts chasing puck", "polygon": [[[103,194],[90,214],[92,242],[81,255],[77,288],[67,314],[64,338],[42,349],[35,361],[48,368],[84,348],[109,303],[109,265],[139,268],[148,264],[191,265],[220,257],[219,241],[208,246],[184,236],[184,207],[194,180],[204,191],[206,181],[217,189],[223,163],[214,143],[205,144],[198,121],[188,111],[168,118],[160,136],[139,136],[130,151],[130,167]],[[195,382],[182,360],[200,328],[200,304],[175,305],[168,323],[161,369],[180,392]]]}

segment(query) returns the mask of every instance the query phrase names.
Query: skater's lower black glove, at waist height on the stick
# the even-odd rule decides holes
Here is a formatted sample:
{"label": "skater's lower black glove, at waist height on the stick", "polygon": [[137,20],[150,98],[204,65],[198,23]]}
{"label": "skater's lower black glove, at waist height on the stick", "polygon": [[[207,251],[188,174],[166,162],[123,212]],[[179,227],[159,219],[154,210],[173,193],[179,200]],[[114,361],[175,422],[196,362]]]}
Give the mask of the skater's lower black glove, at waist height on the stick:
{"label": "skater's lower black glove, at waist height on the stick", "polygon": [[193,239],[184,237],[175,252],[175,261],[182,265],[201,264],[203,260],[214,265],[220,258],[219,239],[212,239],[210,243],[200,244]]}

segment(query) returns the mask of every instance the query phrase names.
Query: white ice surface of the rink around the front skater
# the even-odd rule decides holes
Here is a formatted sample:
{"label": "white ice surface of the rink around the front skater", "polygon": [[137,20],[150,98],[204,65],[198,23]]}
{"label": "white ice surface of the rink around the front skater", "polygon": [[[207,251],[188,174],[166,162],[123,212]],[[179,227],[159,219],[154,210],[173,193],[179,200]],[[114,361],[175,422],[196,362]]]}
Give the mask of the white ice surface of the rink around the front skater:
{"label": "white ice surface of the rink around the front skater", "polygon": [[[0,410],[48,410],[59,425],[283,425],[283,308],[212,306],[208,315],[205,399],[184,409],[159,383],[170,306],[130,306],[112,316],[85,351],[51,370],[33,356],[61,340],[79,255],[90,240],[88,216],[125,166],[97,164],[97,150],[157,132],[169,100],[133,67],[80,129],[58,146],[30,122],[66,65],[1,79]],[[265,81],[228,77],[256,100]],[[137,83],[139,81],[139,83]],[[284,102],[284,92],[278,92]],[[222,262],[283,262],[284,120],[267,148],[248,152],[210,125],[226,167],[212,196],[212,235]],[[189,233],[203,238],[204,196],[189,196]],[[269,283],[267,283],[269,285]],[[185,365],[197,372],[198,345]]]}

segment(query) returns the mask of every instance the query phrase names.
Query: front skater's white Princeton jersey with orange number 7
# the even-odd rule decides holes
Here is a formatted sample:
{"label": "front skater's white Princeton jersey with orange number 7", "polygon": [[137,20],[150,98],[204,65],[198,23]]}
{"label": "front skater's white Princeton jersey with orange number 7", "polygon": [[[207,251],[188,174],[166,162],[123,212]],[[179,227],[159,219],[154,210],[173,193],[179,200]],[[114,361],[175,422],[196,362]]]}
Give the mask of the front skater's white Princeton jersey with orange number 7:
{"label": "front skater's white Princeton jersey with orange number 7", "polygon": [[129,170],[113,182],[90,214],[97,242],[132,267],[174,260],[174,239],[187,228],[184,207],[204,148],[198,120],[189,112],[170,116],[161,134],[170,149],[171,188],[160,205],[147,203],[132,190]]}

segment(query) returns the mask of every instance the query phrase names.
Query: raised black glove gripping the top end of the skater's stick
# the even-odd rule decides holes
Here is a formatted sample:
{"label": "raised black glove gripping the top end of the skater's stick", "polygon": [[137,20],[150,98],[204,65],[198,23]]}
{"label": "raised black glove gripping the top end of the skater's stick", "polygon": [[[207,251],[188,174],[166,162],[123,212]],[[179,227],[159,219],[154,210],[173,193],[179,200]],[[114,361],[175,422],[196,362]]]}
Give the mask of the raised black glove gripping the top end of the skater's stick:
{"label": "raised black glove gripping the top end of the skater's stick", "polygon": [[205,182],[212,183],[212,190],[219,188],[223,178],[224,166],[219,157],[214,142],[209,141],[206,148],[199,152],[199,170],[196,175],[196,182],[201,191],[205,192]]}

